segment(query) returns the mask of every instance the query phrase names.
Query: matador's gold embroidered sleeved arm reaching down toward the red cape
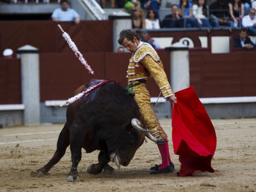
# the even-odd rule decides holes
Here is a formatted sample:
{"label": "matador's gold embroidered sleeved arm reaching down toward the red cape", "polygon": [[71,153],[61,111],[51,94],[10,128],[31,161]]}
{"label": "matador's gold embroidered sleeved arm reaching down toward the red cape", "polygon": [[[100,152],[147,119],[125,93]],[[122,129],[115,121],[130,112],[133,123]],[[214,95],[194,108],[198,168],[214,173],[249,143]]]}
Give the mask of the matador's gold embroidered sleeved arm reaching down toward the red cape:
{"label": "matador's gold embroidered sleeved arm reaching down toward the red cape", "polygon": [[173,95],[171,86],[168,82],[167,76],[164,69],[153,60],[150,55],[146,55],[142,60],[140,60],[145,68],[148,69],[150,74],[154,77],[156,84],[160,88],[164,99]]}

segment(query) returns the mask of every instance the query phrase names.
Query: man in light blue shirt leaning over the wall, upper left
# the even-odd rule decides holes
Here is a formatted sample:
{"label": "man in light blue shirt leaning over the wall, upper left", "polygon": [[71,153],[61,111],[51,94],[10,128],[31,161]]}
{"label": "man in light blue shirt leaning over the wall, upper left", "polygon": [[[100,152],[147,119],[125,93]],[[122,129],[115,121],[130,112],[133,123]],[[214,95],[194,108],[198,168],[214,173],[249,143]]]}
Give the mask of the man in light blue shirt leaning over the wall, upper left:
{"label": "man in light blue shirt leaning over the wall, upper left", "polygon": [[79,14],[69,7],[67,0],[61,0],[60,7],[61,8],[57,8],[53,11],[53,21],[75,21],[76,24],[80,23],[81,19]]}

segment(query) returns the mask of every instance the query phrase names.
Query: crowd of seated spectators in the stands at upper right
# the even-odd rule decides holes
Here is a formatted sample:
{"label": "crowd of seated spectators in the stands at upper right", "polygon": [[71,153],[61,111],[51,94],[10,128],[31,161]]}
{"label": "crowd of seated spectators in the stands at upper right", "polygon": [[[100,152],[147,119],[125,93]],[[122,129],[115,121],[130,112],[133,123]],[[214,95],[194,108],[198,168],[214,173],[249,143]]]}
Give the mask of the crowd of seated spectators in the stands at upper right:
{"label": "crowd of seated spectators in the stands at upper right", "polygon": [[161,0],[118,0],[116,4],[131,13],[135,29],[249,27],[250,34],[256,35],[256,0],[216,0],[209,6],[207,0],[180,0],[163,20],[159,18]]}

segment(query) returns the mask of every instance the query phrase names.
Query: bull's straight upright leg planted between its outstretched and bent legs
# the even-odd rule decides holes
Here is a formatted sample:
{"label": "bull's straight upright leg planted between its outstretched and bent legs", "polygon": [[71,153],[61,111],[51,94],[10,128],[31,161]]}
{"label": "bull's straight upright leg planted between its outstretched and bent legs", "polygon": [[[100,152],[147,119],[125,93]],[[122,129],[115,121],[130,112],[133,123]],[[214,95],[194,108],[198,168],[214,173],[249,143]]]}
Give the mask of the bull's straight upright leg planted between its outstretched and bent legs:
{"label": "bull's straight upright leg planted between its outstretched and bent legs", "polygon": [[69,181],[79,181],[80,176],[78,175],[77,166],[82,158],[82,146],[84,143],[84,126],[83,125],[72,125],[72,131],[70,131],[70,151],[72,166],[68,173]]}

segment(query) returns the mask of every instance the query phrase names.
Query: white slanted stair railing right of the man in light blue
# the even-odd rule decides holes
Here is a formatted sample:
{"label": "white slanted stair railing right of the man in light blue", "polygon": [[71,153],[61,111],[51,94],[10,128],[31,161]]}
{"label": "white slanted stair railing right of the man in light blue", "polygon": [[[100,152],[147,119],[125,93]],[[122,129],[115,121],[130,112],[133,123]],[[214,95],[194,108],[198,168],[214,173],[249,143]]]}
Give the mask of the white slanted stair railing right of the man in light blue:
{"label": "white slanted stair railing right of the man in light blue", "polygon": [[98,20],[108,20],[108,14],[95,0],[83,0],[83,2]]}

